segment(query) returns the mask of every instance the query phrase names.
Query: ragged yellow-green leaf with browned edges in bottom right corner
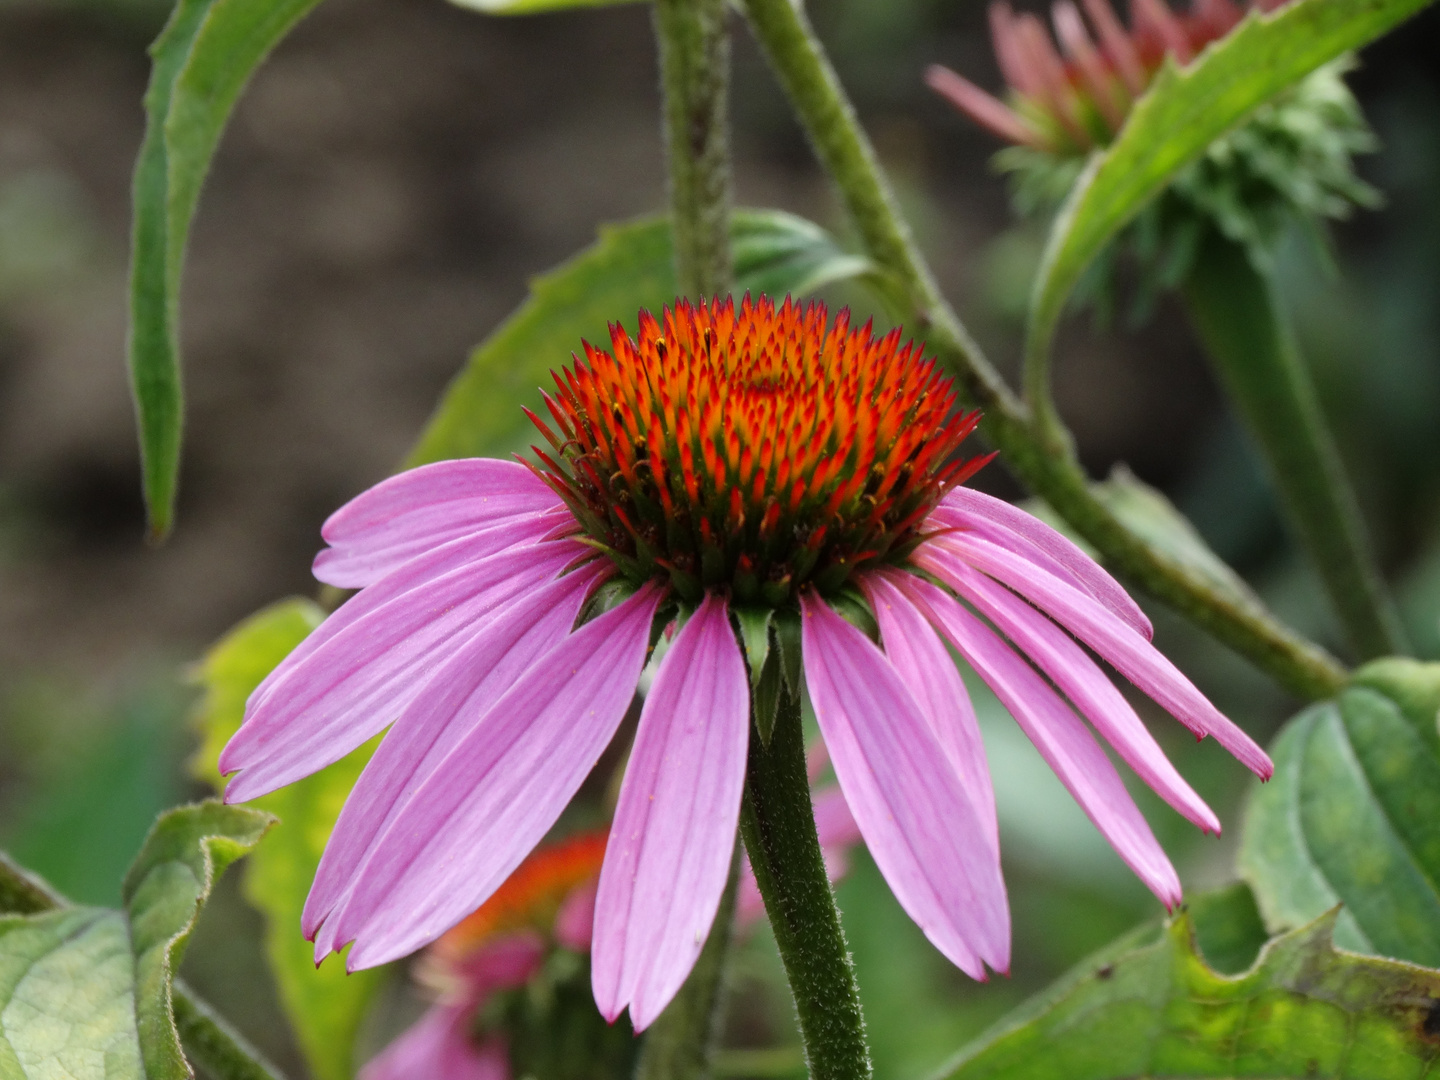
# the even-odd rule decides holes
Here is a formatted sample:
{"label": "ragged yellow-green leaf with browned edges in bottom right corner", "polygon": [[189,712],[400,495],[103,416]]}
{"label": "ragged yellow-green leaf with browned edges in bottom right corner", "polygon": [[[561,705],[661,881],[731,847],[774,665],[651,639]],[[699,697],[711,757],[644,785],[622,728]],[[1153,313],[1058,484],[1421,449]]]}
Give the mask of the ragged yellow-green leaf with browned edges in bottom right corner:
{"label": "ragged yellow-green leaf with browned edges in bottom right corner", "polygon": [[1231,978],[1205,963],[1181,913],[1022,1005],[942,1076],[1418,1080],[1440,1056],[1440,972],[1338,952],[1333,923],[1326,913],[1272,940]]}

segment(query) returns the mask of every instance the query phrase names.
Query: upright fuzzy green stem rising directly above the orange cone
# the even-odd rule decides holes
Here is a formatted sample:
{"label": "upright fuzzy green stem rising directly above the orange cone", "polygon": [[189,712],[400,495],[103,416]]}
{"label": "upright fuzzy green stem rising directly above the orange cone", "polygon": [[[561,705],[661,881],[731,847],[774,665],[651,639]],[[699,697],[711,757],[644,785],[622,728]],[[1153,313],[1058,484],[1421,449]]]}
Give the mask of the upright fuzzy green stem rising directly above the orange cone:
{"label": "upright fuzzy green stem rising directly above the orange cone", "polygon": [[730,37],[726,0],[655,0],[680,294],[730,292]]}

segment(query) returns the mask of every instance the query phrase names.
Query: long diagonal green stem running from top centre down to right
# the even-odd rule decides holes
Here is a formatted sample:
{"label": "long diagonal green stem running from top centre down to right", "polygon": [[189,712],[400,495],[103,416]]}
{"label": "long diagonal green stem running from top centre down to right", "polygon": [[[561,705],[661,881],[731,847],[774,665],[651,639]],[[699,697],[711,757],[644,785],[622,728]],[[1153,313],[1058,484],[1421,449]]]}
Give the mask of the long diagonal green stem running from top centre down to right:
{"label": "long diagonal green stem running from top centre down to right", "polygon": [[[939,295],[805,13],[791,0],[743,0],[743,4],[865,251],[899,289],[903,317],[955,372],[966,403],[985,412],[982,432],[1001,451],[1007,467],[1122,576],[1293,693],[1309,698],[1333,696],[1348,678],[1333,657],[1263,609],[1237,603],[1204,575],[1149,544],[1096,497],[1076,458],[1073,439],[1054,410],[1043,408],[1044,416],[1037,419],[1005,386]],[[1048,387],[1043,400],[1048,400]]]}

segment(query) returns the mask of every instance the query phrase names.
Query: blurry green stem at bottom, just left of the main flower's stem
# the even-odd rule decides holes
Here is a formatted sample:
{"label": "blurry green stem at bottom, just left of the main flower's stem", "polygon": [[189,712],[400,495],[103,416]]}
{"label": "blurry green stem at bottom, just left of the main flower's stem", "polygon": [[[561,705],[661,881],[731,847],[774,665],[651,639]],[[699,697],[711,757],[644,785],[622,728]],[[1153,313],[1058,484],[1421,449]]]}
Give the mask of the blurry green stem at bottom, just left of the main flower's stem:
{"label": "blurry green stem at bottom, just left of the main flower's stem", "polygon": [[740,844],[736,841],[730,877],[706,948],[700,950],[700,959],[680,994],[645,1032],[635,1080],[703,1080],[713,1073],[724,1017],[724,982],[739,887]]}

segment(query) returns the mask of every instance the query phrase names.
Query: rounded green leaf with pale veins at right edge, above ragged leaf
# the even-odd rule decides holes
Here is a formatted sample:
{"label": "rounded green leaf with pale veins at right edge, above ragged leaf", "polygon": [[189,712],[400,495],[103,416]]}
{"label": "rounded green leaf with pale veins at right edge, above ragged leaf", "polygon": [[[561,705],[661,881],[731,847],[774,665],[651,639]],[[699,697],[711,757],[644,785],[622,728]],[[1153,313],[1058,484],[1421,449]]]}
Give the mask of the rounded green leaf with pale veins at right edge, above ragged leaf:
{"label": "rounded green leaf with pale veins at right edge, above ragged leaf", "polygon": [[1336,903],[1346,949],[1440,966],[1440,664],[1381,660],[1292,720],[1240,873],[1272,930]]}

